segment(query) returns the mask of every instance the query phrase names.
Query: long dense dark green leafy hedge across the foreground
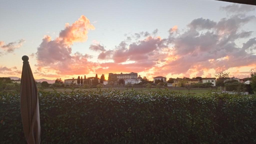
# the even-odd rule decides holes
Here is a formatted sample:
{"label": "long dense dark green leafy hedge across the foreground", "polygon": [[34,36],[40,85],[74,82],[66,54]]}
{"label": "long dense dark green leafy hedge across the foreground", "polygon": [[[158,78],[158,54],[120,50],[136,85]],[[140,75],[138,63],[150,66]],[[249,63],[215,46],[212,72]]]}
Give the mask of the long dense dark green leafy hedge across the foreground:
{"label": "long dense dark green leafy hedge across the foreground", "polygon": [[[253,96],[159,90],[39,93],[41,143],[256,143]],[[26,143],[18,94],[0,98],[0,143]]]}

